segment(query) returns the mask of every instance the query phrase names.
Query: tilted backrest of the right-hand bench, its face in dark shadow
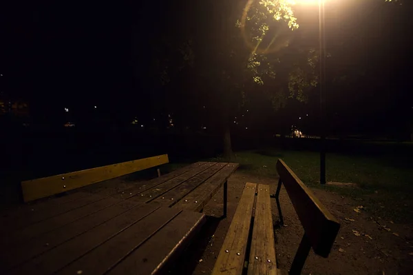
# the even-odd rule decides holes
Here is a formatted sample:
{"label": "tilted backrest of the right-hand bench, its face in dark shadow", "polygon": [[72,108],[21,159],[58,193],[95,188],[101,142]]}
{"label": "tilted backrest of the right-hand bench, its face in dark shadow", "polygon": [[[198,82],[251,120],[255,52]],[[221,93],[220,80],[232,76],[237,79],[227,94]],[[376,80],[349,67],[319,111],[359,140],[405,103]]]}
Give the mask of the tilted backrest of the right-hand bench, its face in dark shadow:
{"label": "tilted backrest of the right-hand bench, its face in dark shadow", "polygon": [[311,247],[316,254],[327,257],[339,232],[340,224],[281,159],[277,161],[277,172]]}

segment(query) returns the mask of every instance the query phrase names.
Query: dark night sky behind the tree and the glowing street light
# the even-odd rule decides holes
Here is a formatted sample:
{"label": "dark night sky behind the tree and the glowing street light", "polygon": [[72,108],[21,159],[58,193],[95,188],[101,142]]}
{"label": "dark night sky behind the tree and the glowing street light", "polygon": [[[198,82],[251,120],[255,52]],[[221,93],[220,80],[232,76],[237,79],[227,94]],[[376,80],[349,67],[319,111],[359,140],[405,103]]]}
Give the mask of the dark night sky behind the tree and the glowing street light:
{"label": "dark night sky behind the tree and the glowing street light", "polygon": [[[412,4],[347,2],[326,8],[326,45],[340,55],[327,65],[331,70],[362,67],[365,74],[328,90],[328,112],[336,119],[331,123],[355,123],[359,126],[354,131],[405,127],[413,115]],[[60,119],[64,108],[87,117],[96,112],[94,105],[115,121],[168,112],[168,94],[159,88],[151,67],[162,52],[160,37],[172,45],[191,37],[194,47],[202,48],[195,60],[209,59],[209,48],[226,39],[222,31],[226,14],[239,11],[243,4],[233,0],[9,3],[0,17],[1,90],[29,101],[30,113],[41,121]],[[297,18],[299,31],[317,39],[317,8],[298,8]],[[203,104],[195,102],[193,94],[204,85],[196,72],[173,84],[182,92],[172,97],[199,109]],[[262,109],[257,121],[282,118],[288,124],[299,123],[299,116],[317,114],[318,103],[315,91],[306,104],[290,100],[278,112]]]}

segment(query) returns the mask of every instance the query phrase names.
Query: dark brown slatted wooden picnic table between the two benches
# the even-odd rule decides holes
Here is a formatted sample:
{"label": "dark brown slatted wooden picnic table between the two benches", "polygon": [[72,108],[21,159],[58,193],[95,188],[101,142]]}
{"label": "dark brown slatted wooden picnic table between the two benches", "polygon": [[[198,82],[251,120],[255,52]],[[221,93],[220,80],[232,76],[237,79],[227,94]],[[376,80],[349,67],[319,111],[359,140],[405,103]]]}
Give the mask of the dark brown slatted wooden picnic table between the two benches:
{"label": "dark brown slatted wooden picnic table between the two benches", "polygon": [[0,217],[0,274],[160,274],[237,169],[198,162],[114,194],[78,191]]}

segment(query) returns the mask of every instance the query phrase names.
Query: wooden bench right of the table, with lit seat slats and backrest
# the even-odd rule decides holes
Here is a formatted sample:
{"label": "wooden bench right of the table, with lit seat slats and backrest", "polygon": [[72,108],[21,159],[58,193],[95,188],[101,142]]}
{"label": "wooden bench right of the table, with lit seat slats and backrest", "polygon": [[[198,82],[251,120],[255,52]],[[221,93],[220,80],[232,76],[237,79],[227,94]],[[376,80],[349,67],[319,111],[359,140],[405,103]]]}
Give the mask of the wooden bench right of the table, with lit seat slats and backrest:
{"label": "wooden bench right of the table, with lit seat slats and backrest", "polygon": [[270,188],[268,185],[246,183],[212,274],[242,274],[246,261],[247,274],[296,275],[301,274],[311,247],[323,257],[330,253],[339,232],[339,223],[284,161],[277,162],[277,172],[279,183],[272,197],[277,201],[280,223],[283,224],[279,192],[284,184],[304,227],[304,236],[290,271],[277,269]]}

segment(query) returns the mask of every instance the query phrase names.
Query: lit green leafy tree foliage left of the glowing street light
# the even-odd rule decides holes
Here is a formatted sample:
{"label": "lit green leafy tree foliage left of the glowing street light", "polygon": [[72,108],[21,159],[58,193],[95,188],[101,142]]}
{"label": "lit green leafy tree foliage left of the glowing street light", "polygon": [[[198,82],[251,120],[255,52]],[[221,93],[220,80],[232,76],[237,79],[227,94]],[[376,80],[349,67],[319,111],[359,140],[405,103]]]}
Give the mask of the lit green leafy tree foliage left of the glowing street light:
{"label": "lit green leafy tree foliage left of the glowing street light", "polygon": [[299,28],[293,5],[283,0],[249,1],[242,19],[235,23],[251,50],[246,63],[250,79],[257,85],[278,86],[272,93],[266,90],[275,109],[285,105],[284,91],[306,101],[306,92],[317,85],[317,52],[289,47],[293,31]]}

